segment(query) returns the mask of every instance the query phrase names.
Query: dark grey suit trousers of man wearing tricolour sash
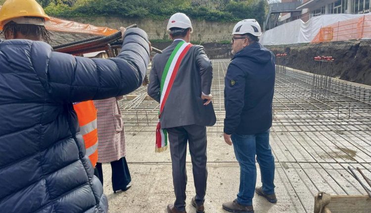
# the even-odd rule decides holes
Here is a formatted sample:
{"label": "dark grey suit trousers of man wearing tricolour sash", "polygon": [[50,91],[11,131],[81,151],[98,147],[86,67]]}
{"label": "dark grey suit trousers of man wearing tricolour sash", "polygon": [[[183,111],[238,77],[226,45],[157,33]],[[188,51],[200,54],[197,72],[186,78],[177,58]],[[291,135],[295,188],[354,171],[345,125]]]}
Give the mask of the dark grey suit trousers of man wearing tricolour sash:
{"label": "dark grey suit trousers of man wearing tricolour sash", "polygon": [[192,160],[194,187],[196,189],[195,201],[202,205],[205,201],[207,168],[206,168],[206,127],[189,125],[166,129],[170,142],[170,154],[173,168],[173,184],[175,192],[174,206],[179,211],[185,211],[185,187],[187,173],[185,157],[187,141]]}

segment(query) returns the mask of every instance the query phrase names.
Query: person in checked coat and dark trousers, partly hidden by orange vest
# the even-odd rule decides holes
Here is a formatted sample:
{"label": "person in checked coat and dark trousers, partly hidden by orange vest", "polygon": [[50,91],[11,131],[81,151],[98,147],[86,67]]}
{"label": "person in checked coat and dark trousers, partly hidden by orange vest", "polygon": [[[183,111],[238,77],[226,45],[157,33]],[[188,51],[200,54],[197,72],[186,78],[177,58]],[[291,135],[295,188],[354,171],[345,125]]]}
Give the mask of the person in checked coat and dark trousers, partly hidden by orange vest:
{"label": "person in checked coat and dark trousers, partly hidden by orange vest", "polygon": [[126,191],[131,187],[131,176],[126,162],[126,143],[124,123],[117,101],[114,97],[94,101],[97,110],[98,162],[96,171],[103,184],[102,163],[111,163],[113,191]]}

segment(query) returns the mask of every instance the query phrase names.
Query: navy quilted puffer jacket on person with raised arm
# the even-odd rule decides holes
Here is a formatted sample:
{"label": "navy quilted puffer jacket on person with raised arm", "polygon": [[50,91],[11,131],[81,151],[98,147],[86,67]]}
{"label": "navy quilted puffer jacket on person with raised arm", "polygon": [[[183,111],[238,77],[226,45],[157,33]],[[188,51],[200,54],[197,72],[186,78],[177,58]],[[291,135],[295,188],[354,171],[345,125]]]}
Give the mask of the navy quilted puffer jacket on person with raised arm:
{"label": "navy quilted puffer jacket on person with raised arm", "polygon": [[105,213],[73,102],[128,94],[142,82],[148,37],[126,31],[116,58],[52,52],[44,42],[0,40],[0,212]]}

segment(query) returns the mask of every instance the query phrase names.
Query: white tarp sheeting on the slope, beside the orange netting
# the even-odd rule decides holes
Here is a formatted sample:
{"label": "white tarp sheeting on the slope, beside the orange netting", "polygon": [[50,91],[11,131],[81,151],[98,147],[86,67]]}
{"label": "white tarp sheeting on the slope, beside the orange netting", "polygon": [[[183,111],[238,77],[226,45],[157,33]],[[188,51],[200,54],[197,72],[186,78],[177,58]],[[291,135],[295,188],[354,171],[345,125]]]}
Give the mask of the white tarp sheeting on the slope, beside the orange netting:
{"label": "white tarp sheeting on the slope, beside the orange netting", "polygon": [[262,45],[310,43],[320,32],[321,27],[339,21],[359,18],[364,15],[365,14],[326,14],[312,17],[307,22],[298,19],[264,32],[260,38],[260,43]]}

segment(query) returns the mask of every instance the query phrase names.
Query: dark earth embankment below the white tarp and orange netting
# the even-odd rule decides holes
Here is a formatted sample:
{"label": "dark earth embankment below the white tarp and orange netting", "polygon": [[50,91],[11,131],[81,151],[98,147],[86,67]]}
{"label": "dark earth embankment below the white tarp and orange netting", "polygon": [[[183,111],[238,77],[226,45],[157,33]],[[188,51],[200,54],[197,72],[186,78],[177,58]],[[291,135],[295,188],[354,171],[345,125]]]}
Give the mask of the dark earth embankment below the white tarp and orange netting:
{"label": "dark earth embankment below the white tarp and orange netting", "polygon": [[274,53],[287,53],[283,65],[313,72],[315,56],[335,58],[331,77],[360,84],[371,85],[371,41],[331,42],[321,44],[297,44],[267,46]]}

